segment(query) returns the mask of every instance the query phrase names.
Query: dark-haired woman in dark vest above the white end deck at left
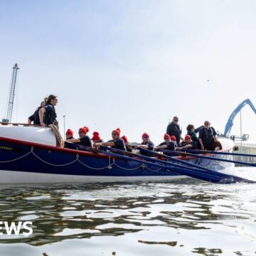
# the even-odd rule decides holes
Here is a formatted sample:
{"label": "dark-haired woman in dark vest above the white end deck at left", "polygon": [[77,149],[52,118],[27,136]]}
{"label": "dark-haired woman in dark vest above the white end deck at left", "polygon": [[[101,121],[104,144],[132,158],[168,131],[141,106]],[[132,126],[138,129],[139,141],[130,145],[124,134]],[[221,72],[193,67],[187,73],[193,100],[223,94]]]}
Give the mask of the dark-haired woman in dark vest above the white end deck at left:
{"label": "dark-haired woman in dark vest above the white end deck at left", "polygon": [[49,95],[46,100],[46,106],[39,110],[39,120],[42,127],[46,127],[49,124],[58,125],[56,120],[57,114],[55,112],[55,106],[57,105],[58,99],[55,95]]}

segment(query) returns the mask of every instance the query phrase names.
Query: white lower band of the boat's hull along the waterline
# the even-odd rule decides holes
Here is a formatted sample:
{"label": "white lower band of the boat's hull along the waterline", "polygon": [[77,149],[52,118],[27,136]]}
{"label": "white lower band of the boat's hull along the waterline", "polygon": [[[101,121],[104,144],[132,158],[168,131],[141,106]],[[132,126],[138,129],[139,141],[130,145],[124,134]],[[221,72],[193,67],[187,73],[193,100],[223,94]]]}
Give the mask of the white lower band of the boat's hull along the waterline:
{"label": "white lower band of the boat's hull along the waterline", "polygon": [[188,176],[80,176],[38,174],[24,171],[2,171],[0,183],[95,183],[129,181],[174,181]]}

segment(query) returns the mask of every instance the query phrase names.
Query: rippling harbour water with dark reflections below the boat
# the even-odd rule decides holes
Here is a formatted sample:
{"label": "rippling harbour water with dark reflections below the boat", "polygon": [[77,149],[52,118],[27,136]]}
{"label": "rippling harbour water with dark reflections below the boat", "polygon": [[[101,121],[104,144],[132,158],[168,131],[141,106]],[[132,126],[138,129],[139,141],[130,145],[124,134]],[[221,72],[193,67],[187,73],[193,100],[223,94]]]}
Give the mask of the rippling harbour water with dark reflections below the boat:
{"label": "rippling harbour water with dark reflections below the boat", "polygon": [[[256,180],[256,169],[234,174]],[[107,183],[0,186],[0,255],[256,255],[256,185]]]}

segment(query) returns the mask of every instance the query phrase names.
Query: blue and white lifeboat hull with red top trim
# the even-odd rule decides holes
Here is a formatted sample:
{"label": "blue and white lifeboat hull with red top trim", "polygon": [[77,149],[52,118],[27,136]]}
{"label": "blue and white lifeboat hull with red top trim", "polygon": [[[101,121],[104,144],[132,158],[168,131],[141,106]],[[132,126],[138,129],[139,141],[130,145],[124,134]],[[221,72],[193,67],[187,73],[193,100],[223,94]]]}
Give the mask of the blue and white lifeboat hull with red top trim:
{"label": "blue and white lifeboat hull with red top trim", "polygon": [[[185,158],[215,170],[232,164]],[[173,181],[188,178],[164,168],[76,149],[0,137],[0,183]]]}

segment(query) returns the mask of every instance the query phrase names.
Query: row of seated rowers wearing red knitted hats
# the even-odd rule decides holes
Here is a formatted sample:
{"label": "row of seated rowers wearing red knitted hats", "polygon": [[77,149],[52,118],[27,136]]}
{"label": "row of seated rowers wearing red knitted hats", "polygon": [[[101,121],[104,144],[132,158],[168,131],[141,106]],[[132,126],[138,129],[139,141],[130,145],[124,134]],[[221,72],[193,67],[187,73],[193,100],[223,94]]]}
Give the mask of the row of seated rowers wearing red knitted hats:
{"label": "row of seated rowers wearing red knitted hats", "polygon": [[[175,150],[181,150],[181,149],[198,149],[197,142],[193,142],[191,139],[191,136],[186,134],[184,141],[181,142],[180,145],[177,146],[176,144],[176,137],[170,136],[169,134],[164,134],[164,142],[161,142],[158,146],[155,146],[153,142],[151,142],[149,134],[144,132],[142,134],[142,143],[137,145],[132,145],[128,142],[128,139],[126,136],[120,136],[120,129],[114,129],[112,131],[112,139],[110,139],[107,142],[103,142],[103,140],[100,138],[100,134],[98,132],[93,132],[93,136],[90,139],[90,137],[87,135],[89,132],[88,127],[82,127],[79,129],[78,134],[79,138],[75,139],[73,137],[73,131],[71,129],[68,129],[65,136],[66,140],[65,142],[70,142],[74,144],[80,144],[82,146],[89,146],[89,147],[95,147],[99,148],[100,146],[111,146],[114,149],[120,149],[124,151],[132,151],[132,149],[137,148],[143,148],[148,149],[150,151],[159,151],[160,149],[166,149],[169,151],[175,151]],[[68,143],[65,143],[66,147],[69,147]],[[141,152],[141,154],[145,154],[144,152]]]}

